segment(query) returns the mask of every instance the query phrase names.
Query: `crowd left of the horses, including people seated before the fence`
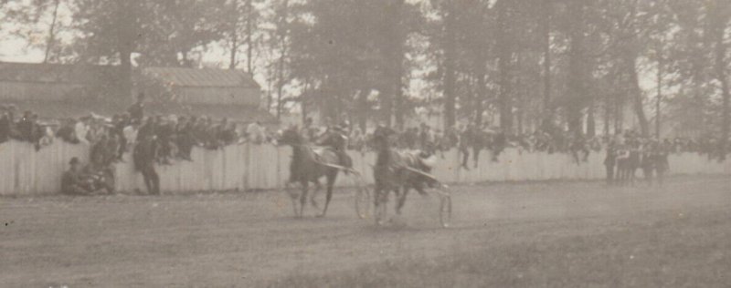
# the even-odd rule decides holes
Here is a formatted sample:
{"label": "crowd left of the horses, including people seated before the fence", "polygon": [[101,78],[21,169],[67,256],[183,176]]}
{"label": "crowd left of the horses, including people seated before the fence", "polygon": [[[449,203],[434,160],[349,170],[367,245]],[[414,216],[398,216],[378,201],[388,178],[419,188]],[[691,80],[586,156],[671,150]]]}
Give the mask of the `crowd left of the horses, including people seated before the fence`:
{"label": "crowd left of the horses, including people seated before the fence", "polygon": [[69,161],[61,190],[68,194],[110,192],[113,185],[113,163],[132,154],[136,170],[143,174],[152,194],[160,192],[154,165],[170,165],[173,160],[190,160],[194,147],[221,149],[244,142],[263,144],[274,135],[259,121],[245,128],[227,118],[207,116],[146,115],[141,94],[126,111],[111,118],[90,114],[81,118],[41,121],[32,111],[18,112],[14,105],[0,106],[0,145],[15,139],[43,149],[56,140],[90,146],[89,162],[78,158]]}

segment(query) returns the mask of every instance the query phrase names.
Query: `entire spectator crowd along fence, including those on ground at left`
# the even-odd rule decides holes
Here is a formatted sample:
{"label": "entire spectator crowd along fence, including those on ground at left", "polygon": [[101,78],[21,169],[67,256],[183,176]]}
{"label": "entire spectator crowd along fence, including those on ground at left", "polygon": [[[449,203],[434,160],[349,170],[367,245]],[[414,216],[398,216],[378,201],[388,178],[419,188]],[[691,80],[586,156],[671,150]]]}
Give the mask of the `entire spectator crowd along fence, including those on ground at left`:
{"label": "entire spectator crowd along fence, including those on ground at left", "polygon": [[[78,119],[56,121],[41,121],[32,111],[25,111],[17,118],[19,113],[15,107],[2,106],[0,143],[16,139],[30,143],[37,151],[56,140],[84,144],[89,147],[87,157],[83,158],[88,159],[84,174],[106,175],[112,180],[116,177],[114,165],[125,160],[125,153],[130,153],[134,168],[143,174],[145,186],[154,193],[160,190],[154,166],[193,161],[191,153],[196,147],[215,151],[242,143],[276,144],[276,134],[258,122],[242,130],[237,123],[226,118],[145,116],[143,100],[141,96],[127,111],[111,118],[90,114]],[[323,135],[337,132],[346,134],[344,136],[349,139],[349,149],[360,151],[361,154],[369,150],[367,131],[347,124],[341,124],[339,129],[333,128],[316,126],[311,119],[307,119],[301,129],[302,134],[313,144],[318,144],[318,139],[322,139]],[[648,139],[633,131],[624,131],[611,137],[590,138],[552,128],[538,129],[529,134],[510,134],[497,128],[478,128],[474,125],[441,131],[422,124],[397,134],[397,147],[400,149],[422,149],[442,159],[445,152],[458,149],[461,159],[458,169],[461,170],[477,169],[483,150],[490,153],[493,162],[500,161],[503,150],[513,148],[549,155],[566,154],[577,165],[587,162],[592,154],[604,152],[603,163],[607,166],[609,179],[614,174],[609,173],[609,166],[614,170],[615,162],[623,157],[625,151],[664,154],[665,157],[671,153],[693,152],[707,159],[720,160],[726,157],[724,151],[731,150],[719,147],[720,143],[711,136],[699,139]],[[152,182],[148,181],[150,178]]]}

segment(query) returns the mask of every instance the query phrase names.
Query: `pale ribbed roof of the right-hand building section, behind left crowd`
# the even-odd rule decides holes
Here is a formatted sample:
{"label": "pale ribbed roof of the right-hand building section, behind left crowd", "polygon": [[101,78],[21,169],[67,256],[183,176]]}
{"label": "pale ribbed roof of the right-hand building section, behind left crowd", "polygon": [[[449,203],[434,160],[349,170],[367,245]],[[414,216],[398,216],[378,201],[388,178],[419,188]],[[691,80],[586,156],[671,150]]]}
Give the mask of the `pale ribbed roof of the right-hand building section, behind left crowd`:
{"label": "pale ribbed roof of the right-hand building section, behind left crowd", "polygon": [[249,73],[238,69],[146,67],[143,74],[177,87],[260,88]]}

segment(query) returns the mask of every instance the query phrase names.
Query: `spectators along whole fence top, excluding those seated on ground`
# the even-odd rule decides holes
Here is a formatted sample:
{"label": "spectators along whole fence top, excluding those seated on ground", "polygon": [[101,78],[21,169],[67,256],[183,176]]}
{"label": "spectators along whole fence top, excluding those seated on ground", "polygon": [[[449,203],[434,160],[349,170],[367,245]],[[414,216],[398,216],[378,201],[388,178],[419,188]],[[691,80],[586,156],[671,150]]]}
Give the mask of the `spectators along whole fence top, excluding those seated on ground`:
{"label": "spectators along whole fence top, excluding those seated on ground", "polygon": [[[351,125],[347,127],[348,149],[368,149],[370,131]],[[303,134],[308,139],[316,139],[327,130],[327,126],[316,126],[309,118],[302,125]],[[590,153],[606,149],[612,141],[630,136],[638,138],[634,135],[636,133],[632,133],[625,131],[614,136],[586,137],[549,127],[536,129],[532,133],[514,134],[496,127],[462,125],[440,130],[421,124],[399,131],[396,145],[399,149],[424,149],[435,153],[457,148],[462,152],[465,167],[470,155],[477,159],[482,150],[489,150],[493,160],[498,161],[506,148],[567,153],[581,162],[588,159]],[[51,122],[41,122],[37,114],[31,111],[18,113],[12,105],[0,106],[0,143],[16,139],[32,143],[36,149],[41,149],[55,139],[74,144],[84,143],[90,145],[90,161],[101,166],[121,161],[122,155],[131,151],[137,139],[147,136],[154,136],[158,141],[155,159],[160,164],[168,164],[171,159],[192,160],[191,150],[194,147],[221,149],[243,142],[272,143],[276,138],[259,122],[243,128],[227,118],[145,116],[142,99],[124,113],[111,118],[90,114]],[[645,142],[652,140],[641,139]],[[707,155],[709,159],[719,156],[719,144],[720,140],[712,136],[662,139],[663,147],[671,152],[694,152]]]}

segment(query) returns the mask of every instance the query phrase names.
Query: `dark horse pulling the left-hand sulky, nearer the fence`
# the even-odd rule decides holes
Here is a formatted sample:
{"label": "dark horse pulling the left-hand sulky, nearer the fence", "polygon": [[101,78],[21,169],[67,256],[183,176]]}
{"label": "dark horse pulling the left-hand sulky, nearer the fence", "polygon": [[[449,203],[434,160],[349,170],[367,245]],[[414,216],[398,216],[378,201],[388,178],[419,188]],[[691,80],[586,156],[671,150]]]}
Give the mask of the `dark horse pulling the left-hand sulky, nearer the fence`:
{"label": "dark horse pulling the left-hand sulky, nearer the fence", "polygon": [[289,145],[292,149],[290,179],[287,181],[286,185],[289,186],[291,183],[300,183],[302,186],[302,193],[299,195],[299,210],[297,209],[296,203],[297,195],[291,195],[295,215],[302,217],[310,183],[315,185],[315,190],[310,201],[314,207],[317,207],[317,203],[314,201],[314,196],[317,194],[317,191],[322,188],[320,185],[320,179],[325,177],[327,179],[327,197],[323,212],[322,214],[319,214],[318,217],[325,216],[330,200],[333,198],[333,185],[337,179],[339,171],[339,169],[336,168],[340,166],[340,159],[338,158],[338,155],[332,149],[315,149],[310,145],[307,145],[296,128],[284,130],[281,134],[281,138],[279,139],[279,143],[282,145]]}

